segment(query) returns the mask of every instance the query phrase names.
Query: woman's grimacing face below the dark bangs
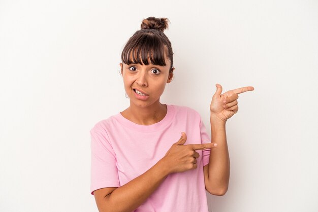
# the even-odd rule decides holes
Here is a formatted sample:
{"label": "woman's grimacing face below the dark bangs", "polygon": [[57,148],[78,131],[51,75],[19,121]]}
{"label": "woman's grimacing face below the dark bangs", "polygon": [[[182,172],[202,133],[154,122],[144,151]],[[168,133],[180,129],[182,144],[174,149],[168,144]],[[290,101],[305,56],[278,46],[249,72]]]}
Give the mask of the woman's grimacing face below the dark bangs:
{"label": "woman's grimacing face below the dark bangs", "polygon": [[173,77],[166,54],[165,61],[165,66],[153,65],[150,59],[148,65],[120,63],[124,88],[131,104],[145,108],[159,102],[166,83],[170,83]]}

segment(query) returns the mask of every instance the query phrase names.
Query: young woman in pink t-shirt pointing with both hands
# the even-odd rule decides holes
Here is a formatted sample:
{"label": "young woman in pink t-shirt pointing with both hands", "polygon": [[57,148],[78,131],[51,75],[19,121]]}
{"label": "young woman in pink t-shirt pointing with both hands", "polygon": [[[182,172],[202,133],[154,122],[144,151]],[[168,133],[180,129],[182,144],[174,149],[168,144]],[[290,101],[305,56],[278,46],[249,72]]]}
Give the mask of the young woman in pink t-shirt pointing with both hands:
{"label": "young woman in pink t-shirt pointing with both hands", "polygon": [[143,20],[121,54],[130,107],[90,131],[91,194],[99,211],[202,212],[205,190],[227,192],[226,121],[238,111],[238,94],[253,87],[221,94],[216,84],[210,139],[196,111],[160,102],[174,71],[167,27],[166,18]]}

